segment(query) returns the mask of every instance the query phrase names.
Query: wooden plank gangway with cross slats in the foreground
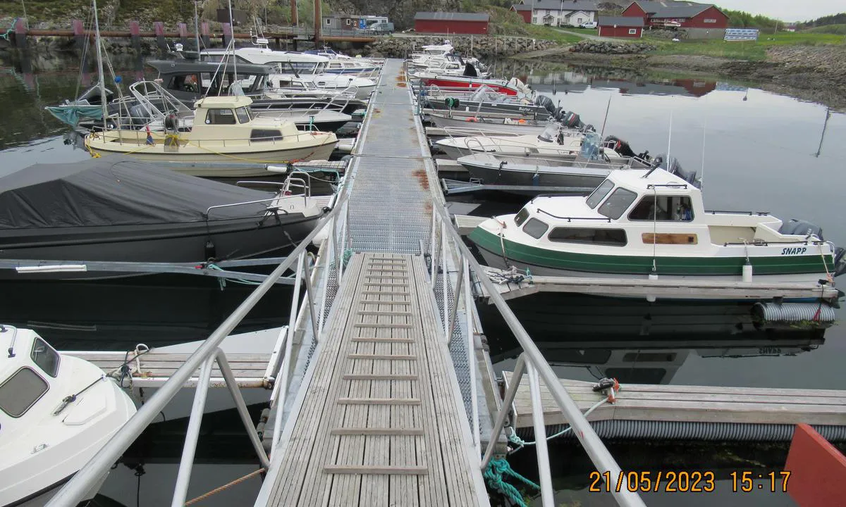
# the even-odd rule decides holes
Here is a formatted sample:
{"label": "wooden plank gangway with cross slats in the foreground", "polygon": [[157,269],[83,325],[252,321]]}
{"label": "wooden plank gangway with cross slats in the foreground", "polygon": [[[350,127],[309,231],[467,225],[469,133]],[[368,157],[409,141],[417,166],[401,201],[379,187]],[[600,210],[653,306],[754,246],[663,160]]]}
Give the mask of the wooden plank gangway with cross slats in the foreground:
{"label": "wooden plank gangway with cross slats in the foreground", "polygon": [[355,254],[344,279],[267,504],[487,505],[422,258]]}

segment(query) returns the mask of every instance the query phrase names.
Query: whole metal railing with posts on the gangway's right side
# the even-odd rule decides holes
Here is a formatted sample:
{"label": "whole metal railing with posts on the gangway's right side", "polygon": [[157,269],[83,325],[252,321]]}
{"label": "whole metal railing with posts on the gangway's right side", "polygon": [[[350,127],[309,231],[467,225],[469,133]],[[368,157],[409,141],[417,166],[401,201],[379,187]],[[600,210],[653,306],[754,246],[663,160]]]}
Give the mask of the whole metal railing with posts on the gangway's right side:
{"label": "whole metal railing with posts on the gangway's right side", "polygon": [[[617,461],[614,460],[613,455],[607,450],[605,444],[602,443],[602,440],[591,427],[591,423],[587,421],[585,414],[580,412],[573,398],[560,383],[558,375],[552,370],[535,342],[532,341],[523,325],[520,324],[519,319],[514,315],[511,308],[508,307],[508,303],[505,302],[505,299],[497,290],[497,286],[494,285],[484,268],[476,261],[473,254],[470,253],[470,249],[464,244],[464,240],[453,226],[448,210],[437,199],[434,199],[433,210],[429,244],[429,253],[431,256],[431,290],[436,294],[436,298],[439,295],[442,300],[440,313],[445,341],[452,344],[453,340],[456,339],[455,336],[461,335],[460,332],[458,334],[454,334],[453,332],[462,329],[465,331],[463,337],[466,339],[466,343],[464,346],[467,350],[467,361],[470,366],[469,399],[472,401],[476,400],[476,338],[481,336],[481,330],[479,330],[480,332],[476,332],[474,324],[477,320],[475,317],[475,303],[473,301],[475,287],[481,286],[482,293],[489,298],[489,303],[493,303],[495,308],[497,308],[508,328],[514,333],[514,337],[522,349],[514,366],[514,373],[509,379],[505,398],[499,405],[496,416],[494,417],[492,433],[488,439],[484,454],[481,452],[479,439],[478,406],[475,402],[471,403],[472,414],[469,416],[473,446],[473,455],[471,456],[473,461],[471,462],[479,466],[482,472],[486,471],[497,448],[497,441],[505,429],[506,421],[512,414],[514,398],[517,394],[519,384],[523,381],[524,377],[528,377],[532,414],[535,423],[535,448],[542,505],[544,507],[551,507],[555,499],[552,489],[549,451],[547,450],[547,430],[544,422],[544,404],[548,404],[549,401],[541,403],[541,381],[546,384],[549,394],[552,395],[552,402],[561,411],[564,420],[569,423],[572,433],[584,447],[596,470],[608,472],[610,477],[623,477],[624,472],[622,472]],[[423,247],[421,246],[422,249]],[[448,277],[453,274],[455,275],[455,286],[450,291],[448,290]],[[436,284],[438,278],[441,278],[442,282],[440,284]],[[464,315],[459,319],[458,309],[462,304]],[[613,382],[610,387],[606,386],[606,389],[613,390],[616,387],[616,383]],[[609,398],[613,398],[613,391],[609,395]],[[513,428],[511,431],[513,431]],[[629,488],[609,488],[608,491],[611,492],[619,505],[625,507],[645,506],[639,494],[636,491],[629,490]]]}

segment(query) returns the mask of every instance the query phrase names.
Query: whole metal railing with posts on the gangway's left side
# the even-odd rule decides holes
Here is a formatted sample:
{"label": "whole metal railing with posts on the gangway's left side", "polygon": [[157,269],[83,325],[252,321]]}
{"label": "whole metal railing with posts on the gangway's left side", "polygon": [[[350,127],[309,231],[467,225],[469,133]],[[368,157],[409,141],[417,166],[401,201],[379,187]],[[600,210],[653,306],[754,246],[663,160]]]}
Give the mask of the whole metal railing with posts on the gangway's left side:
{"label": "whole metal railing with posts on the gangway's left side", "polygon": [[[276,269],[270,275],[267,275],[264,281],[261,281],[255,287],[253,292],[244,299],[239,307],[216,330],[211,332],[211,335],[209,335],[206,341],[203,341],[201,346],[185,360],[183,365],[135,412],[135,415],[129,418],[129,421],[124,424],[123,428],[118,429],[102,449],[85,466],[82,466],[80,471],[74,474],[74,477],[69,482],[64,484],[52,499],[49,500],[47,505],[50,507],[73,507],[79,504],[85,498],[85,494],[107,474],[113,464],[124,454],[129,448],[129,445],[151,423],[157,420],[159,413],[182,390],[185,382],[197,376],[194,403],[191,408],[188,429],[185,434],[182,455],[179,461],[179,471],[176,478],[176,485],[173,489],[173,500],[171,503],[174,507],[184,505],[194,464],[197,440],[200,435],[201,421],[206,406],[206,395],[210,387],[211,371],[215,363],[217,363],[225,384],[233,396],[237,412],[239,413],[241,422],[244,424],[244,429],[250,437],[250,444],[252,444],[255,454],[258,456],[261,466],[264,470],[269,468],[269,457],[262,447],[261,439],[256,432],[253,422],[250,420],[250,414],[247,412],[237,380],[234,378],[231,368],[229,368],[226,354],[222,352],[220,345],[223,339],[239,325],[247,313],[255,307],[256,303],[265,296],[270,288],[288,270],[294,270],[294,294],[299,294],[300,287],[305,285],[305,297],[303,297],[302,306],[299,306],[298,297],[292,298],[289,322],[294,324],[298,320],[298,314],[307,315],[311,321],[311,331],[314,333],[315,339],[319,340],[323,324],[326,320],[328,270],[330,268],[336,269],[338,271],[338,280],[342,280],[343,249],[338,249],[338,245],[343,245],[344,243],[343,237],[346,231],[346,223],[349,221],[348,198],[349,187],[343,187],[342,191],[333,198],[332,210],[317,221],[315,228],[294,248],[291,254],[288,254],[288,257],[281,264],[278,264]],[[314,263],[315,266],[321,263],[323,266],[323,272],[321,273],[323,284],[321,286],[321,292],[318,293],[314,290],[312,284],[312,278],[316,279],[317,277],[316,270],[312,270],[312,263],[306,248],[327,227],[329,230],[327,241],[323,243],[323,247]],[[317,313],[318,304],[321,306],[320,313]],[[272,449],[276,448],[278,438],[282,433],[281,421],[283,419],[283,412],[281,407],[284,406],[284,397],[288,392],[288,377],[290,376],[289,372],[291,371],[292,358],[294,357],[293,342],[295,327],[294,325],[288,325],[286,328],[283,328],[277,340],[277,347],[274,350],[282,350],[284,347],[284,353],[275,355],[272,361],[268,363],[265,373],[267,384],[272,385],[271,399],[277,401],[276,431],[273,433]],[[199,375],[195,375],[198,368],[200,369],[200,373]]]}

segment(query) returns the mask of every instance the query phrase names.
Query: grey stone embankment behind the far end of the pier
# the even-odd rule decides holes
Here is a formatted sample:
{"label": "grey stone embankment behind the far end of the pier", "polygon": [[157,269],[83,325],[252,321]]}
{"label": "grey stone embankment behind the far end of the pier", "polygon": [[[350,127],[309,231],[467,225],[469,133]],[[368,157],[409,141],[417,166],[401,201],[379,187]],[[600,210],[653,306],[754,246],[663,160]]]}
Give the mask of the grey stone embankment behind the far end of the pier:
{"label": "grey stone embankment behind the far end of the pier", "polygon": [[403,58],[412,52],[420,51],[422,46],[443,44],[445,39],[450,41],[459,54],[478,58],[510,57],[557,46],[553,41],[492,35],[383,37],[365,46],[360,54],[371,57]]}

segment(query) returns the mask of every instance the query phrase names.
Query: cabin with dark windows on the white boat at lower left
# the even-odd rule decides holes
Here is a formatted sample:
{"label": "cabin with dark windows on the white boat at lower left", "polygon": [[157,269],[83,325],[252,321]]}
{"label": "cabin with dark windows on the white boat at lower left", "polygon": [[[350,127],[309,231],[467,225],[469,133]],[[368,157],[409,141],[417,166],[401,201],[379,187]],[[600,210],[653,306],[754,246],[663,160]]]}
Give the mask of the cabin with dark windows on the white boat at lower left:
{"label": "cabin with dark windows on the white boat at lower left", "polygon": [[[0,351],[0,432],[8,434],[31,421],[24,418],[27,414],[39,412],[44,416],[56,408],[57,395],[47,393],[60,387],[54,384],[62,357],[35,331],[3,324]],[[58,400],[67,394],[63,391]]]}

